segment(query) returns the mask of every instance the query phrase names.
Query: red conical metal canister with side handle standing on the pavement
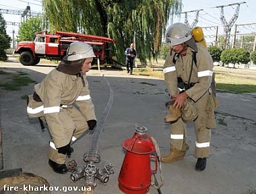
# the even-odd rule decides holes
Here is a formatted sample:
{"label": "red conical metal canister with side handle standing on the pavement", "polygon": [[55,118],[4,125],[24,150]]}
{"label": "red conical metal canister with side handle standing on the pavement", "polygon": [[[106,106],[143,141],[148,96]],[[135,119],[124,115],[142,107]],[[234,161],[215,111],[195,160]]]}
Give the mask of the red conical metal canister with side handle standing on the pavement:
{"label": "red conical metal canister with side handle standing on the pavement", "polygon": [[[123,142],[125,159],[119,173],[119,189],[127,194],[146,194],[150,190],[151,175],[156,173],[158,159],[152,155],[155,146],[147,134],[146,127],[136,127],[131,139]],[[150,160],[155,160],[155,169],[151,169]]]}

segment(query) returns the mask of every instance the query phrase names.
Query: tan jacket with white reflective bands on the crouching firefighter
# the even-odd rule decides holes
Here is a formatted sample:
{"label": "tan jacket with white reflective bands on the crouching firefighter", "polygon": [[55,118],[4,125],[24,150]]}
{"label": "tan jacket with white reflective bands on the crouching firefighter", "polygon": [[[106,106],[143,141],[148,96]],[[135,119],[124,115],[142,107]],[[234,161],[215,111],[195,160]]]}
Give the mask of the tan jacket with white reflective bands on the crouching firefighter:
{"label": "tan jacket with white reflective bands on the crouching firefighter", "polygon": [[[88,82],[84,75],[82,77],[69,75],[53,69],[40,84],[36,84],[34,90],[42,100],[44,106],[44,117],[53,136],[56,148],[60,148],[69,143],[63,123],[59,119],[61,108],[71,106],[75,103],[86,121],[96,120],[94,104],[90,97]],[[84,124],[86,125],[86,123]],[[58,142],[61,145],[58,145]]]}

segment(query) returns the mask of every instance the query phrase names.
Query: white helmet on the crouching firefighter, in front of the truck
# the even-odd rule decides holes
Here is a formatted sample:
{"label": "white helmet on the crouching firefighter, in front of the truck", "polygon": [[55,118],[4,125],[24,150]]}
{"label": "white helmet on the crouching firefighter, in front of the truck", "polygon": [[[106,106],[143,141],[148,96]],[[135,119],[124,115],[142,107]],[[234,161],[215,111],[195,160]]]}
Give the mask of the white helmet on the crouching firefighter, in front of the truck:
{"label": "white helmet on the crouching firefighter, in front of the truck", "polygon": [[96,56],[94,55],[92,46],[86,42],[72,42],[69,48],[67,48],[67,61],[77,61],[90,57]]}

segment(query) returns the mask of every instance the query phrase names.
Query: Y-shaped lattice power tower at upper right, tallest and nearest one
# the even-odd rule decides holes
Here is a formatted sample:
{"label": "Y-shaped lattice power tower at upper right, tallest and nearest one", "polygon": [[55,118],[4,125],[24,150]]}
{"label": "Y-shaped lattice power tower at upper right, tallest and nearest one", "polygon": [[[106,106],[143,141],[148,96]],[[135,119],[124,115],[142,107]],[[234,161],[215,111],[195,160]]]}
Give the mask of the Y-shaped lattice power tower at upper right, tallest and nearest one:
{"label": "Y-shaped lattice power tower at upper right, tallest and nearest one", "polygon": [[[217,6],[216,8],[220,8],[221,12],[220,12],[220,20],[222,21],[223,24],[223,28],[224,28],[224,44],[222,45],[222,48],[229,48],[229,43],[230,43],[230,31],[232,26],[234,25],[234,22],[236,22],[236,19],[238,18],[238,13],[239,13],[239,9],[240,9],[240,5],[246,3],[241,2],[241,3],[232,3],[232,4],[228,4],[228,5],[220,5]],[[236,5],[236,10],[234,11],[234,15],[232,16],[232,18],[230,19],[229,22],[226,22],[225,16],[224,16],[224,7],[228,7],[228,6],[232,6],[232,5]]]}

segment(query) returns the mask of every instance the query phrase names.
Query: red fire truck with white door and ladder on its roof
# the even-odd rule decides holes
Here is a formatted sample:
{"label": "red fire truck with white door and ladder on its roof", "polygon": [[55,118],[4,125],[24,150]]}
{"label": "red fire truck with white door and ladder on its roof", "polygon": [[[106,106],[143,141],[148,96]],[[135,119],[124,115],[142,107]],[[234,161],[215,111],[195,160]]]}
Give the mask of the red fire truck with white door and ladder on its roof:
{"label": "red fire truck with white door and ladder on its roof", "polygon": [[100,62],[106,63],[107,59],[111,59],[109,44],[114,43],[115,40],[73,32],[57,31],[54,34],[49,34],[47,31],[42,31],[36,32],[36,38],[33,42],[19,42],[14,53],[20,54],[22,65],[36,65],[40,62],[40,59],[60,61],[66,55],[71,42],[91,44]]}

